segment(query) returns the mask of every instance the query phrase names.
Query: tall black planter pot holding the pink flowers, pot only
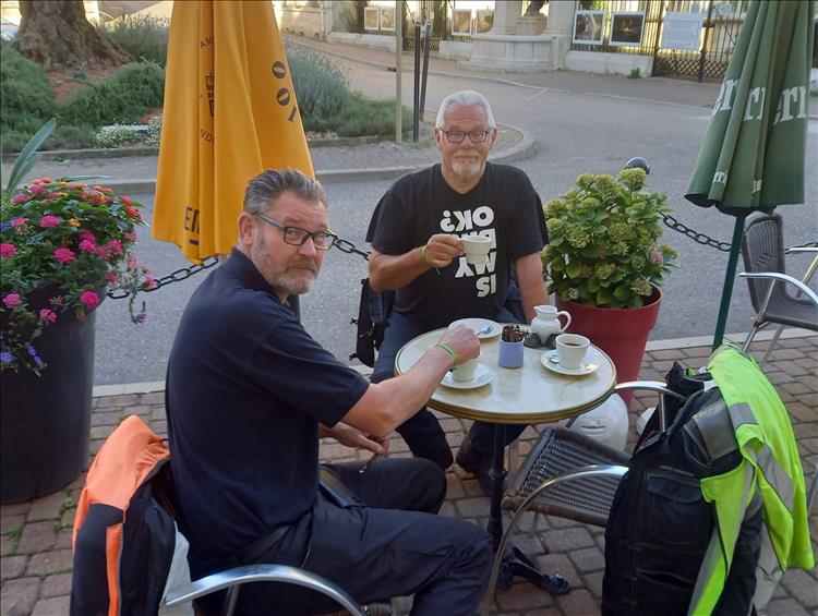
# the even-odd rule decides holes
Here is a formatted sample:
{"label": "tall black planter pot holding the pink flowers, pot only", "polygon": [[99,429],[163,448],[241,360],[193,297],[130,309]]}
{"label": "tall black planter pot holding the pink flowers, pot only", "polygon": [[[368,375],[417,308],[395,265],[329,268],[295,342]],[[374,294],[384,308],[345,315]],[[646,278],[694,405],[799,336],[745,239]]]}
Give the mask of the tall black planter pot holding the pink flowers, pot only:
{"label": "tall black planter pot holding the pink flowers, pot only", "polygon": [[[29,305],[45,306],[55,291],[32,293]],[[67,311],[35,340],[39,357],[48,364],[41,376],[27,369],[2,373],[0,503],[56,492],[86,468],[95,319],[95,312],[77,321],[72,311]]]}

